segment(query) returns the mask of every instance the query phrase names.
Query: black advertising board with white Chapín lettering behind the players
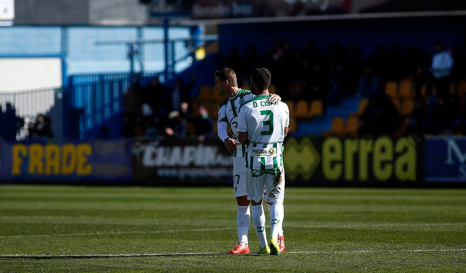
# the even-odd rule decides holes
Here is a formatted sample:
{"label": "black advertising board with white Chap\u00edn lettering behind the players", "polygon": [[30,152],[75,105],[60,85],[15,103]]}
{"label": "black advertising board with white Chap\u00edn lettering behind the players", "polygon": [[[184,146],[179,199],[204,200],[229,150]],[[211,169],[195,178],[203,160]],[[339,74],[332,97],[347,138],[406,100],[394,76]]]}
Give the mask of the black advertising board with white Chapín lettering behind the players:
{"label": "black advertising board with white Chap\u00edn lettering behind the players", "polygon": [[218,140],[133,140],[134,179],[190,185],[233,181],[233,156]]}

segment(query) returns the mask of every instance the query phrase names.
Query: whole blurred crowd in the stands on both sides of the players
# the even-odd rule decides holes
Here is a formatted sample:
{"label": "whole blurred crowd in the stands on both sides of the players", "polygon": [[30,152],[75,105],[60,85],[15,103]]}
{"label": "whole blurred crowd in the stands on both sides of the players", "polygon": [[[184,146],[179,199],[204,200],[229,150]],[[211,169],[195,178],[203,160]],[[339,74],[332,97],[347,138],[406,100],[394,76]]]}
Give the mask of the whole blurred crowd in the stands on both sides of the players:
{"label": "whole blurred crowd in the stands on both sides of the players", "polygon": [[[466,40],[466,39],[465,39]],[[301,48],[277,39],[263,55],[253,46],[244,55],[232,49],[224,67],[232,68],[238,84],[249,85],[255,67],[268,68],[277,93],[283,100],[322,100],[338,105],[342,98],[369,98],[360,116],[360,134],[393,134],[404,128],[406,134],[466,133],[466,93],[455,86],[466,78],[466,41],[462,47],[435,45],[431,56],[418,47],[402,51],[396,43],[381,45],[367,59],[356,46],[344,48],[333,43],[328,52],[319,52],[312,40]],[[206,108],[190,97],[195,75],[189,82],[178,79],[173,87],[152,79],[148,86],[135,84],[123,98],[123,135],[185,137],[212,136],[214,121]],[[389,81],[410,79],[414,110],[399,113],[399,101],[385,93]]]}

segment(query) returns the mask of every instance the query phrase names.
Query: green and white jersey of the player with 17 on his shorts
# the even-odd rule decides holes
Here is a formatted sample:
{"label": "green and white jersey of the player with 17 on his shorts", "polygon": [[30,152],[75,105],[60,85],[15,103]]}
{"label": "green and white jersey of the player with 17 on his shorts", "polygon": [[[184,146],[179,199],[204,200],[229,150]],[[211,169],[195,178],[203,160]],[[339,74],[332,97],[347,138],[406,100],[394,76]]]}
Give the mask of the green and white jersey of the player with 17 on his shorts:
{"label": "green and white jersey of the player with 17 on his shorts", "polygon": [[[254,98],[254,94],[249,90],[240,89],[233,98],[226,98],[219,105],[219,121],[226,122],[233,133],[232,139],[238,141],[238,110],[245,101]],[[238,145],[233,153],[235,157],[244,157],[246,146]]]}

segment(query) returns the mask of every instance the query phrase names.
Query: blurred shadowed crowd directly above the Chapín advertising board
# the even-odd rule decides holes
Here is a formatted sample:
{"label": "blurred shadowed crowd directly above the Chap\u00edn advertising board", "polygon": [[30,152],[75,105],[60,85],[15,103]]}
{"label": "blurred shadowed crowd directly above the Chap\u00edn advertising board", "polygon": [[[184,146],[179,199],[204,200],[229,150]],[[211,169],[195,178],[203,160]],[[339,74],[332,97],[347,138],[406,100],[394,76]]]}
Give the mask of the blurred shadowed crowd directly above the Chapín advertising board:
{"label": "blurred shadowed crowd directly above the Chap\u00edn advertising board", "polygon": [[153,78],[148,86],[134,84],[123,98],[125,137],[186,137],[203,140],[212,136],[213,121],[206,108],[190,98],[195,75],[169,88]]}

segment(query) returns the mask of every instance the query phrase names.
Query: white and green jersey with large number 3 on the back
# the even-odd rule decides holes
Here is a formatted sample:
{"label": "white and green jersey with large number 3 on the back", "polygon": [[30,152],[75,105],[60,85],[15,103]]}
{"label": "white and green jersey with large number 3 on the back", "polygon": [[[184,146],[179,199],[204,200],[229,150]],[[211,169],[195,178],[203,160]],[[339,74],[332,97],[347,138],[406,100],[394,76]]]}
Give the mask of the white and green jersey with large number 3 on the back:
{"label": "white and green jersey with large number 3 on the back", "polygon": [[239,132],[247,132],[249,144],[246,167],[256,170],[283,165],[283,140],[289,125],[288,105],[270,103],[268,95],[259,95],[240,107]]}

